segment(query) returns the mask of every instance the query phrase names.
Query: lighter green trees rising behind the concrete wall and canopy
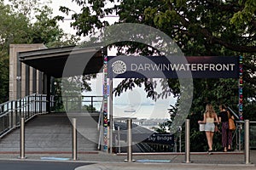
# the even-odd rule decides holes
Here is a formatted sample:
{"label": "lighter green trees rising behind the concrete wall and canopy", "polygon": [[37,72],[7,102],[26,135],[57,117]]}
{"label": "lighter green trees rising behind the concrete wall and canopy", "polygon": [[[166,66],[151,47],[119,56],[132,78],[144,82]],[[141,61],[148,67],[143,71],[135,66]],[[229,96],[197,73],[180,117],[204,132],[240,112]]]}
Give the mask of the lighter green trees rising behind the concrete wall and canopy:
{"label": "lighter green trees rising behind the concrete wall and canopy", "polygon": [[36,0],[12,0],[9,4],[0,1],[0,103],[9,96],[9,44],[44,43],[47,47],[60,47],[78,41],[64,33],[51,15],[52,9]]}

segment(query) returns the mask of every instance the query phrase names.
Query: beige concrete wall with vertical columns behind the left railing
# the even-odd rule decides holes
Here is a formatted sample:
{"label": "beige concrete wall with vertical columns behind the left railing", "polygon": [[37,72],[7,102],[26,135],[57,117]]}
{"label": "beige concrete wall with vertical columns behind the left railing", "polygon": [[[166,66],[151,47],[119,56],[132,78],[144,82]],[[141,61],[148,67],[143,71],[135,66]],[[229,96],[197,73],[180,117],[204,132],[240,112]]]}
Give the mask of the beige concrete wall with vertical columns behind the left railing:
{"label": "beige concrete wall with vertical columns behind the left railing", "polygon": [[[42,83],[39,80],[39,74],[42,74],[40,71],[36,71],[36,76],[33,76],[33,68],[29,67],[26,69],[26,65],[20,63],[19,61],[19,52],[32,51],[36,49],[46,48],[44,44],[10,44],[9,47],[9,100],[19,99],[24,97],[27,94],[41,94],[40,85]],[[21,67],[21,69],[20,69]],[[29,70],[29,71],[28,71]],[[34,71],[35,72],[35,71]],[[20,80],[17,78],[20,77]],[[27,79],[27,78],[28,79]],[[26,83],[26,80],[28,83]],[[33,86],[33,83],[36,81],[36,86]],[[27,87],[28,84],[28,87]],[[35,85],[35,84],[34,84]],[[36,89],[34,88],[36,87]],[[27,88],[27,90],[26,90]],[[21,96],[20,96],[21,95]]]}

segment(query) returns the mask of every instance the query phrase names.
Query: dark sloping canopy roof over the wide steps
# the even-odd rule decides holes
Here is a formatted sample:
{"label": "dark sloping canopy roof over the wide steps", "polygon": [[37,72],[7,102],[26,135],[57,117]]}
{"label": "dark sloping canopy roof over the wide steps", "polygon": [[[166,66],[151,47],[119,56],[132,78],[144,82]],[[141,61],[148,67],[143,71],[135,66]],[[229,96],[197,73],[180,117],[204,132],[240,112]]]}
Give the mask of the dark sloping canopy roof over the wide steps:
{"label": "dark sloping canopy roof over the wide steps", "polygon": [[[63,77],[67,59],[73,60],[73,69],[65,71],[65,77],[101,72],[103,64],[101,47],[76,48],[75,46],[68,46],[61,48],[45,48],[20,52],[19,57],[22,63],[56,78]],[[86,65],[84,65],[84,63],[86,63]],[[76,71],[76,68],[84,68],[84,72]]]}

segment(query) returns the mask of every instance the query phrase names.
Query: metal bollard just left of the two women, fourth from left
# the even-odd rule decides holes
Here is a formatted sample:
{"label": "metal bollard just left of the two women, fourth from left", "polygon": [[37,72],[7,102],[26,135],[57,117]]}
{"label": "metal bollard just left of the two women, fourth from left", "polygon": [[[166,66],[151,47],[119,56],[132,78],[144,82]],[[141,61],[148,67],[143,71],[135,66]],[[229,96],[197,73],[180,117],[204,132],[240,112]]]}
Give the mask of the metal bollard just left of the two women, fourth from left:
{"label": "metal bollard just left of the two women, fourth from left", "polygon": [[185,122],[185,163],[190,163],[190,120]]}

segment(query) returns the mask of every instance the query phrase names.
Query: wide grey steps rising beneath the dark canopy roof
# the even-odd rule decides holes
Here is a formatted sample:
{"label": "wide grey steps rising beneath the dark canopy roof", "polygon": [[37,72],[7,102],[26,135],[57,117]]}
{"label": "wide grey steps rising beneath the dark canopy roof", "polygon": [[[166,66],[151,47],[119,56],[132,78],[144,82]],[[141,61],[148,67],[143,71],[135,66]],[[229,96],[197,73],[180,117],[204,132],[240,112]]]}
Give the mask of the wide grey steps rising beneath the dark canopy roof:
{"label": "wide grey steps rising beneath the dark canopy roof", "polygon": [[[78,151],[97,150],[98,116],[81,115],[78,118]],[[82,126],[84,124],[84,127]],[[95,127],[93,127],[95,125]],[[66,113],[38,115],[25,125],[26,152],[71,152],[72,123]],[[89,136],[85,136],[90,134]],[[18,152],[20,150],[20,128],[0,139],[0,152]]]}

